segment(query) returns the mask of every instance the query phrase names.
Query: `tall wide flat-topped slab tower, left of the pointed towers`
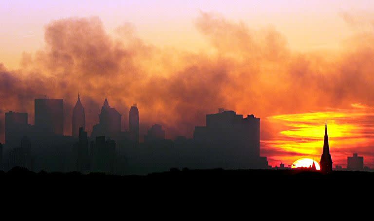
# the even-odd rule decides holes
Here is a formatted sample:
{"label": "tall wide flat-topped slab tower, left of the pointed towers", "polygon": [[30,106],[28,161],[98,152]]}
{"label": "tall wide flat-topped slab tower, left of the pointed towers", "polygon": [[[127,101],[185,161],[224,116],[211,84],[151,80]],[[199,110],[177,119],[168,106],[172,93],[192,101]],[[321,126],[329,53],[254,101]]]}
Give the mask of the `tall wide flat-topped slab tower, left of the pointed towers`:
{"label": "tall wide flat-topped slab tower, left of the pointed towers", "polygon": [[63,135],[64,100],[35,99],[35,127],[43,135]]}

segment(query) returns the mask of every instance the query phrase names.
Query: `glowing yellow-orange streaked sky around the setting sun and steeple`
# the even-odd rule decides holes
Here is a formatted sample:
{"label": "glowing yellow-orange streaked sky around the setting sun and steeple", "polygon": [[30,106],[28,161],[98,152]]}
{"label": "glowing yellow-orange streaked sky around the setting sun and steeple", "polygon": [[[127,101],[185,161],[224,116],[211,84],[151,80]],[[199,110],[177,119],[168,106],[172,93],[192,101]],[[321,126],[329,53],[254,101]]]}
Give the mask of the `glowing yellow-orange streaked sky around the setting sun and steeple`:
{"label": "glowing yellow-orange streaked sky around the setting sun and steeple", "polygon": [[[262,140],[264,152],[274,151],[269,160],[273,166],[280,161],[291,165],[298,158],[320,158],[323,147],[324,129],[327,130],[334,166],[346,167],[347,157],[353,153],[365,155],[364,164],[373,167],[374,128],[368,119],[374,117],[370,107],[329,110],[268,117],[271,123],[279,124],[281,131],[269,140]],[[364,111],[363,111],[364,110]],[[276,152],[289,153],[276,156]],[[370,154],[371,153],[371,154]],[[294,155],[296,154],[296,155]]]}

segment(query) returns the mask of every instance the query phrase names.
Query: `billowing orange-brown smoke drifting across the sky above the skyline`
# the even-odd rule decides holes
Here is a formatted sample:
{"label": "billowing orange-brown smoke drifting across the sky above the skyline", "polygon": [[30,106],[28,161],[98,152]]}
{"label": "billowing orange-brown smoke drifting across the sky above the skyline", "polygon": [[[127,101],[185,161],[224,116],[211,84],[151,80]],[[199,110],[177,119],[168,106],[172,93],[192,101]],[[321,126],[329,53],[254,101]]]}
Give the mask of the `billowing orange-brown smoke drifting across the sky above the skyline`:
{"label": "billowing orange-brown smoke drifting across the sky above the skyline", "polygon": [[[213,52],[164,50],[140,39],[131,24],[110,35],[98,17],[52,21],[43,50],[24,53],[19,70],[0,66],[0,121],[13,110],[27,111],[33,123],[35,98],[63,98],[70,135],[78,91],[89,132],[107,94],[123,114],[124,129],[129,107],[137,103],[143,133],[161,123],[169,138],[191,136],[206,113],[219,107],[264,119],[374,105],[373,32],[358,33],[338,54],[325,55],[291,51],[274,28],[251,28],[209,13],[195,24]],[[272,136],[266,122],[262,128],[262,139]]]}

